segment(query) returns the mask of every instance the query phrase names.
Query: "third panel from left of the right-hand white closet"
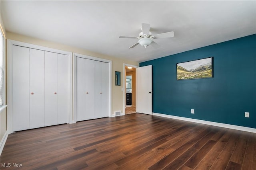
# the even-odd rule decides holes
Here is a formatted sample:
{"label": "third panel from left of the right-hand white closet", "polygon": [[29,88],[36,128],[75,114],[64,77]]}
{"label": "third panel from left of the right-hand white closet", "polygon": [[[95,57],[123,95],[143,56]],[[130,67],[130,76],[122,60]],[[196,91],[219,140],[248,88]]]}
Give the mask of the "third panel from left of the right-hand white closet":
{"label": "third panel from left of the right-hand white closet", "polygon": [[102,62],[94,61],[94,119],[102,115]]}

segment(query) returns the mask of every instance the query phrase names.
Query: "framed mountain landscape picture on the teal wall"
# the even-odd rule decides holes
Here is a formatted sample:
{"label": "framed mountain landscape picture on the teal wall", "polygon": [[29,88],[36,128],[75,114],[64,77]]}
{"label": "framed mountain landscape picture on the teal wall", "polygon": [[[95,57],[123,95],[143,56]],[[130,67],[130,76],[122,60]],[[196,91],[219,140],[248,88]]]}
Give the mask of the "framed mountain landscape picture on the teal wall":
{"label": "framed mountain landscape picture on the teal wall", "polygon": [[213,57],[177,63],[177,80],[213,77]]}

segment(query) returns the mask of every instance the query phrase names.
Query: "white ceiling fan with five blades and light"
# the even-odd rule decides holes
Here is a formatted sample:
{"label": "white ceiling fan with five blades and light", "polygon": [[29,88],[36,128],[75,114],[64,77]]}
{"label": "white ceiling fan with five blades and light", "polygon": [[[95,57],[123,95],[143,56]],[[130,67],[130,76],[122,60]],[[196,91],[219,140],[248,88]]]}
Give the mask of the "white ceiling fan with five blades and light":
{"label": "white ceiling fan with five blades and light", "polygon": [[152,33],[149,31],[150,30],[150,24],[148,23],[142,23],[141,24],[141,30],[142,32],[139,34],[138,37],[129,37],[129,36],[119,36],[119,38],[134,38],[134,39],[138,39],[138,43],[132,45],[131,47],[129,47],[129,49],[135,47],[136,45],[140,44],[142,47],[148,47],[148,45],[152,45],[152,46],[159,46],[156,42],[153,41],[153,39],[157,39],[157,38],[168,38],[168,37],[174,37],[174,32],[166,32],[166,33],[160,33],[160,34],[156,34],[156,35],[152,35]]}

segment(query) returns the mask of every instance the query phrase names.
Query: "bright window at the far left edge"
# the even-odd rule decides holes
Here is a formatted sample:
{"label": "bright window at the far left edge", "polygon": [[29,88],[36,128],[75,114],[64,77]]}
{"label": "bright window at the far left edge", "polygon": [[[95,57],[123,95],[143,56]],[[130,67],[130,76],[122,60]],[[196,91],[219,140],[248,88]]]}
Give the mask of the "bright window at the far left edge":
{"label": "bright window at the far left edge", "polygon": [[4,34],[0,31],[0,106],[4,105]]}

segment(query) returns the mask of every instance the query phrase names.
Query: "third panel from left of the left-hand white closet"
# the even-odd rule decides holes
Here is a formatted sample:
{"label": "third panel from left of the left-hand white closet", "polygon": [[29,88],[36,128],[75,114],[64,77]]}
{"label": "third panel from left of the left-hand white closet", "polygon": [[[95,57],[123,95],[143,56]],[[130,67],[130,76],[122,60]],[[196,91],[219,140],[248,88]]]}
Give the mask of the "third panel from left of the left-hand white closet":
{"label": "third panel from left of the left-hand white closet", "polygon": [[44,126],[57,124],[57,53],[44,52]]}

